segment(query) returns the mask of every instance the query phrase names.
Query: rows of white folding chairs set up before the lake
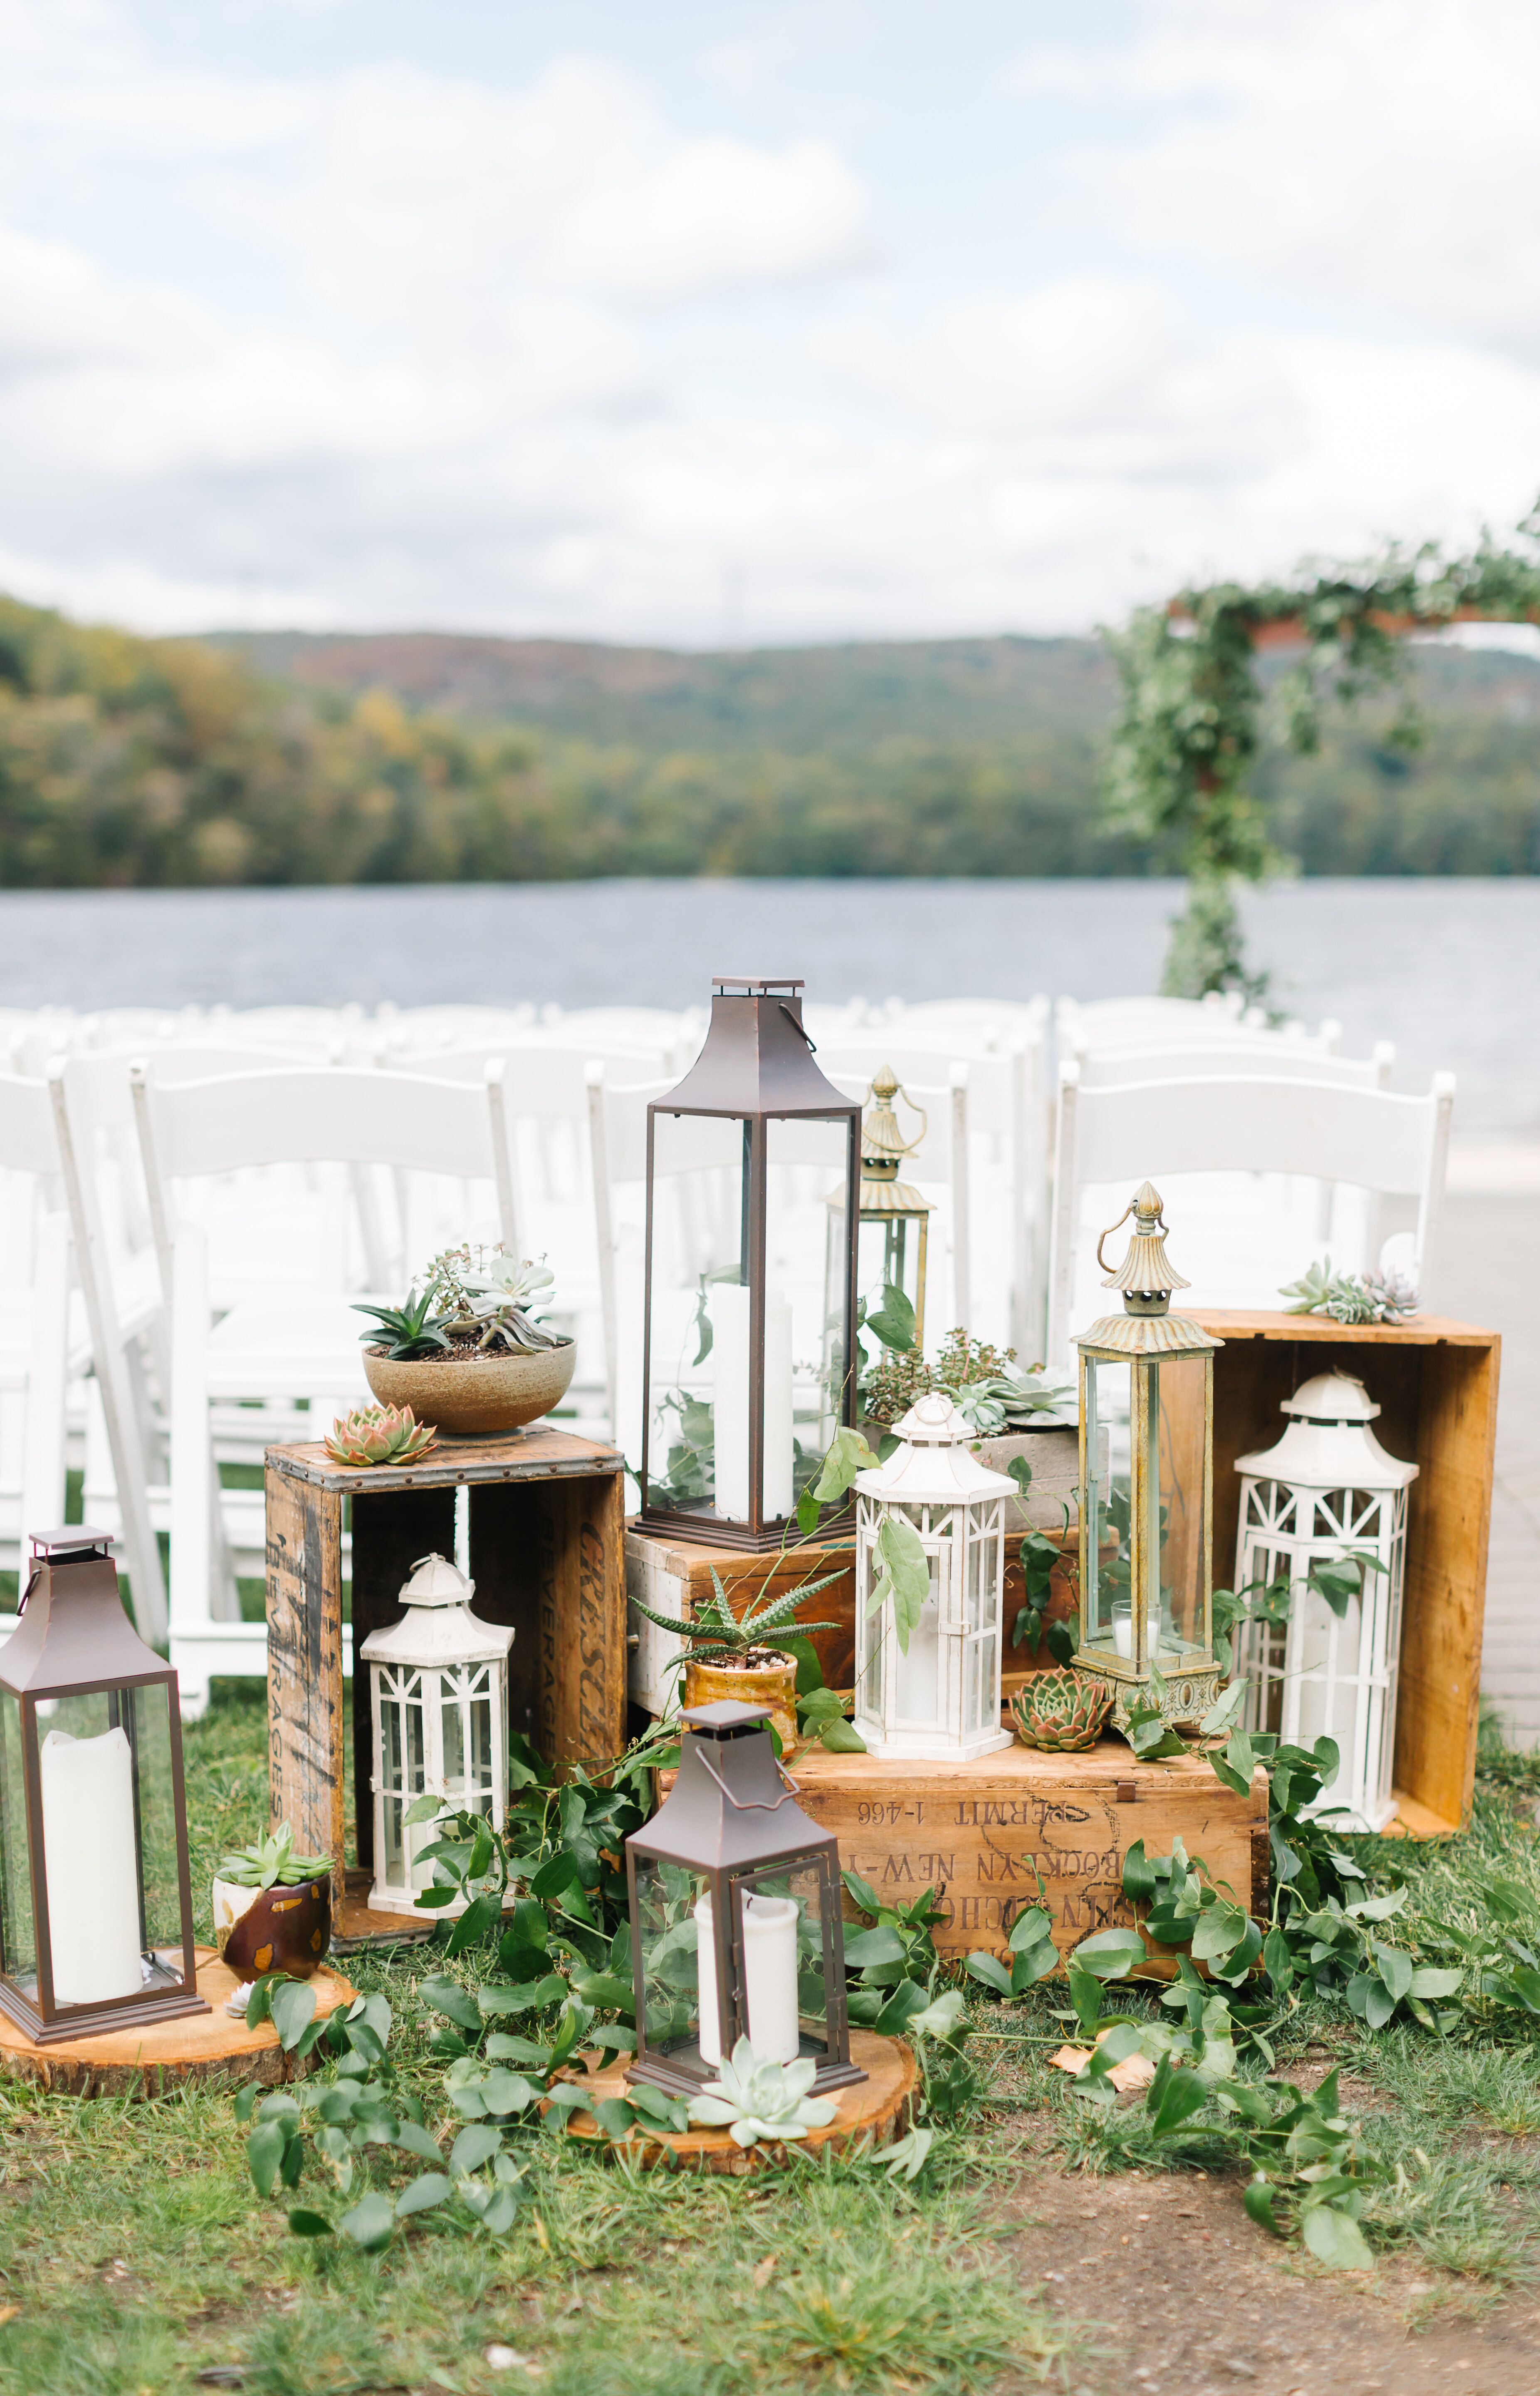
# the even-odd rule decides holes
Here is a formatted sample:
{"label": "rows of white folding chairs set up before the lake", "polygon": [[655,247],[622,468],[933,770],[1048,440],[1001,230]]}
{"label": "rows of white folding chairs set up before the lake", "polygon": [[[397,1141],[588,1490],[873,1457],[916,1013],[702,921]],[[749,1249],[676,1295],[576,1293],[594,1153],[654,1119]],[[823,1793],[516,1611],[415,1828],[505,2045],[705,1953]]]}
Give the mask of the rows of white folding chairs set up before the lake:
{"label": "rows of white folding chairs set up before the lake", "polygon": [[[1451,1085],[1392,1093],[1392,1052],[1344,1059],[1334,1025],[1178,1002],[807,1021],[836,1085],[860,1100],[889,1064],[924,1117],[910,1174],[939,1215],[934,1330],[1063,1361],[1102,1311],[1087,1234],[1147,1174],[1233,1186],[1186,1248],[1238,1222],[1231,1301],[1267,1303],[1277,1277],[1257,1284],[1253,1251],[1267,1272],[1291,1239],[1317,1253],[1344,1196],[1360,1200],[1344,1263],[1372,1260],[1384,1208],[1411,1203],[1413,1263],[1432,1270]],[[261,1670],[237,1596],[242,1567],[261,1569],[261,1493],[223,1488],[220,1466],[362,1399],[352,1301],[400,1294],[467,1234],[556,1251],[580,1421],[635,1454],[647,1102],[699,1035],[699,1016],[649,1009],[0,1018],[17,1069],[0,1078],[5,1550],[57,1519],[79,1447],[86,1514],[120,1529],[139,1622],[170,1634],[189,1711],[211,1675]]]}

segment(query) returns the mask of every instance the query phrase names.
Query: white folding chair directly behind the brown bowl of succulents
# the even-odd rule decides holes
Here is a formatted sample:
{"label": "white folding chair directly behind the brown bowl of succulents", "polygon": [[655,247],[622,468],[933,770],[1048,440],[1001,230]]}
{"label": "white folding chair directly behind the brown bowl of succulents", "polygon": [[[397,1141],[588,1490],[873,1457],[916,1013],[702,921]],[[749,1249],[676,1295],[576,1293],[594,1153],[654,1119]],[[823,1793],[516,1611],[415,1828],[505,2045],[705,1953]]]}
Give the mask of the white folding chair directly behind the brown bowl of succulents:
{"label": "white folding chair directly behind the brown bowl of succulents", "polygon": [[[467,1088],[345,1066],[153,1083],[134,1066],[134,1117],[170,1308],[170,1653],[182,1711],[208,1704],[213,1672],[263,1672],[266,1629],[240,1620],[220,1562],[211,1406],[309,1399],[323,1433],[335,1404],[366,1399],[359,1315],[311,1258],[213,1320],[208,1229],[182,1191],[273,1164],[395,1167],[491,1181],[513,1246],[513,1172],[501,1073]],[[216,1224],[218,1234],[218,1224]],[[259,1493],[251,1493],[256,1498]]]}

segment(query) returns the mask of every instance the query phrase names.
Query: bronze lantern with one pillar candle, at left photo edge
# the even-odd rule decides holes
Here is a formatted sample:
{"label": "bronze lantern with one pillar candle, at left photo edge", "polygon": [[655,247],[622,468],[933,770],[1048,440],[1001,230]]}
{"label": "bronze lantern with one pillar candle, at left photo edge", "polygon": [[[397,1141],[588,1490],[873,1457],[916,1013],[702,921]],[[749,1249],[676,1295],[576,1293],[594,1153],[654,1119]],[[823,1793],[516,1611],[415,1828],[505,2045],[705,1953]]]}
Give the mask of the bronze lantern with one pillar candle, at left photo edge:
{"label": "bronze lantern with one pillar candle, at left photo edge", "polygon": [[208,2013],[196,1991],[177,1675],[105,1531],[34,1536],[0,1648],[0,2008],[38,2044]]}

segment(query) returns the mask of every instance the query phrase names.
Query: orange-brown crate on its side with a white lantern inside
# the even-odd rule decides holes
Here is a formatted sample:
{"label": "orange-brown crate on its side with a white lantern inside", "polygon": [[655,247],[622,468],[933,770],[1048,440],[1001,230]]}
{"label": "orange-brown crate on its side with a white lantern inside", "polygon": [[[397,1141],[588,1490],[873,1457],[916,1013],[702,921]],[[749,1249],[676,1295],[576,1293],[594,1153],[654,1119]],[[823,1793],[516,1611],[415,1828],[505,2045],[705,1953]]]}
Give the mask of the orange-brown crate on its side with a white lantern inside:
{"label": "orange-brown crate on its side with a white lantern inside", "polygon": [[1207,1308],[1214,1351],[1214,1581],[1231,1586],[1236,1457],[1272,1447],[1279,1406],[1312,1373],[1356,1373],[1380,1402],[1377,1438],[1418,1464],[1406,1519],[1396,1828],[1456,1831],[1475,1785],[1480,1632],[1487,1598],[1497,1332],[1415,1315],[1401,1325]]}

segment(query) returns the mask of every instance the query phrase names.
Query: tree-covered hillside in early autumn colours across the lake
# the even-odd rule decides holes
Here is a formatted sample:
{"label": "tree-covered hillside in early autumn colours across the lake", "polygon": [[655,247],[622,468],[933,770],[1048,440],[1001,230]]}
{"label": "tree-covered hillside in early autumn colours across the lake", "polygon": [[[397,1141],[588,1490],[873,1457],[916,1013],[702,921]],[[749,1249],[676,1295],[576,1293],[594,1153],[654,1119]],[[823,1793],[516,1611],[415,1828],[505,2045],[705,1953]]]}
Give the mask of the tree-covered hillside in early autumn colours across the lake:
{"label": "tree-covered hillside in early autumn colours across the lake", "polygon": [[[1420,652],[1257,786],[1308,872],[1540,870],[1540,666]],[[0,599],[0,884],[1138,875],[1095,642],[678,657],[448,635],[137,640]]]}

